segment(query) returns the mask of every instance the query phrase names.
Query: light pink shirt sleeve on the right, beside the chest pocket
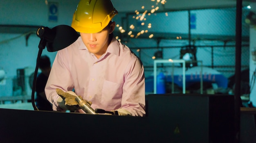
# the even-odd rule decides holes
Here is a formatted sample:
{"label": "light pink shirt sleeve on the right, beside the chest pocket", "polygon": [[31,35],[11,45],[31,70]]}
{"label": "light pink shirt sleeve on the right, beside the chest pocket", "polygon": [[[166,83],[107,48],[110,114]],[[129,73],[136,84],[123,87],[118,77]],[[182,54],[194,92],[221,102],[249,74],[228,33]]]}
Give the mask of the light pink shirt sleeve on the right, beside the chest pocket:
{"label": "light pink shirt sleeve on the right, beside the chest pocket", "polygon": [[144,67],[136,57],[126,69],[121,108],[129,111],[132,116],[144,116],[145,102]]}

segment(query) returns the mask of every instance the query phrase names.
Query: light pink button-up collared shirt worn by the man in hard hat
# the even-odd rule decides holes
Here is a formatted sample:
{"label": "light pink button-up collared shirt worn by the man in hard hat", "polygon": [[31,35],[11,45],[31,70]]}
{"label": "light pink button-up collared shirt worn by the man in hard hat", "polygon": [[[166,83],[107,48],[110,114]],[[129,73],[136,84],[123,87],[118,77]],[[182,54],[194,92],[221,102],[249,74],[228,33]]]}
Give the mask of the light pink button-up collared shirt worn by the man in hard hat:
{"label": "light pink button-up collared shirt worn by the man in hard hat", "polygon": [[139,58],[115,38],[99,59],[88,51],[81,37],[59,50],[45,93],[53,110],[61,111],[56,102],[60,97],[56,88],[63,91],[74,89],[77,95],[92,102],[93,109],[111,111],[123,108],[133,116],[145,115],[144,67]]}

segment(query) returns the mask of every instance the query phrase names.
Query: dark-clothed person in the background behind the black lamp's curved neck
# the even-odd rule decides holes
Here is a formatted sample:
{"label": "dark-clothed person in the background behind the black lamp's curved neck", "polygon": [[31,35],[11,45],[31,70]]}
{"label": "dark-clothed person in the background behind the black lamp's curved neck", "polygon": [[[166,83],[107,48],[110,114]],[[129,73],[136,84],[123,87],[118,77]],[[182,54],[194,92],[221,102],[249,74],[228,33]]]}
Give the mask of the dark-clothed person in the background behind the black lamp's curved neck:
{"label": "dark-clothed person in the background behind the black lamp's curved neck", "polygon": [[46,99],[45,85],[51,71],[51,61],[48,56],[40,57],[39,69],[41,73],[36,78],[36,107],[38,110],[52,111],[52,104]]}

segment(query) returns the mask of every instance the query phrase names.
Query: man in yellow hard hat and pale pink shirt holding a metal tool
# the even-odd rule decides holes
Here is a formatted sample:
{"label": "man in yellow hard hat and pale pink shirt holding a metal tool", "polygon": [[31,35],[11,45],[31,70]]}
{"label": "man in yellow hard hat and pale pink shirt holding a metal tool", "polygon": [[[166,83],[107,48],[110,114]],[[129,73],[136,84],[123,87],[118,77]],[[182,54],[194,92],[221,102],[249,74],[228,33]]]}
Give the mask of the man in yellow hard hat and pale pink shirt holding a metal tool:
{"label": "man in yellow hard hat and pale pink shirt holding a metal tool", "polygon": [[[81,37],[57,52],[45,87],[54,111],[77,109],[67,106],[63,98],[74,90],[71,94],[92,102],[93,109],[145,115],[144,67],[126,45],[115,39],[112,18],[116,14],[110,0],[79,2],[71,26]],[[85,113],[81,109],[76,112]]]}

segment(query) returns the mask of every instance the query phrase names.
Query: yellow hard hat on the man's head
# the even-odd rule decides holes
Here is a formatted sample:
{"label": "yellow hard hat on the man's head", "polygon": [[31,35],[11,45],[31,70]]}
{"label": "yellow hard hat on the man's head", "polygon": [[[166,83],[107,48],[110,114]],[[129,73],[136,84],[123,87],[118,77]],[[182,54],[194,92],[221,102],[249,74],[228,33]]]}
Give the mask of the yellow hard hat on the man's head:
{"label": "yellow hard hat on the man's head", "polygon": [[81,33],[97,33],[103,30],[117,13],[110,0],[80,0],[71,27]]}

